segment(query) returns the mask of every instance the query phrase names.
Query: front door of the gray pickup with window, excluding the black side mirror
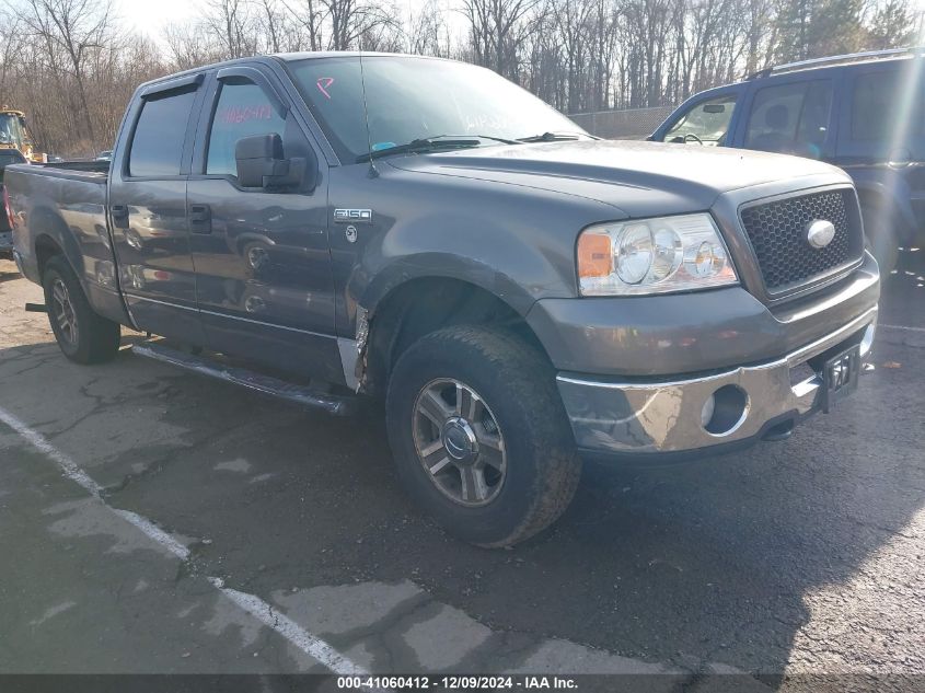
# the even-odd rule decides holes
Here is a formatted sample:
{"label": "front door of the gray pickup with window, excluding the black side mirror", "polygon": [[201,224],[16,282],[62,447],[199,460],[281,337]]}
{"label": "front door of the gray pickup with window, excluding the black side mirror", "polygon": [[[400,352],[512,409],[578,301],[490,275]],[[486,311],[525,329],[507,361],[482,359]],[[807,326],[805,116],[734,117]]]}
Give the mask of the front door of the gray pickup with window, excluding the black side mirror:
{"label": "front door of the gray pickup with window, excluding the black side mirror", "polygon": [[273,80],[254,67],[211,80],[187,190],[196,296],[210,349],[336,382],[326,171],[311,190],[238,182],[244,137],[277,134],[287,159],[319,161]]}

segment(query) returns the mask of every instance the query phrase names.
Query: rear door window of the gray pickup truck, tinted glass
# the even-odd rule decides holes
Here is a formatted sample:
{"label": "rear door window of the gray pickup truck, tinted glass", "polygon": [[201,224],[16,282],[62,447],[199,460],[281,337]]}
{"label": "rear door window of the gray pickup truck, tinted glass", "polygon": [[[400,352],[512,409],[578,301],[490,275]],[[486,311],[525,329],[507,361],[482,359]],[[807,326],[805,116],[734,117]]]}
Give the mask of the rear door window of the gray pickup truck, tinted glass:
{"label": "rear door window of the gray pickup truck, tinted glass", "polygon": [[196,91],[146,99],[128,155],[131,176],[180,175],[183,140]]}

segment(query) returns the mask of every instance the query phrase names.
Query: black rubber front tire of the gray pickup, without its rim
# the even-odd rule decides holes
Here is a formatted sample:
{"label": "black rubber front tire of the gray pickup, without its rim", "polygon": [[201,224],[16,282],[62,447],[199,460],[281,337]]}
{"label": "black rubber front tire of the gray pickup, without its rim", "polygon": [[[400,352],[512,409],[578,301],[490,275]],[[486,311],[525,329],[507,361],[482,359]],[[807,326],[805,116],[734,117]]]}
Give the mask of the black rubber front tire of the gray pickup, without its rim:
{"label": "black rubber front tire of the gray pickup, without its rim", "polygon": [[[506,472],[490,487],[495,495],[485,505],[471,507],[451,498],[418,454],[418,397],[444,379],[464,383],[478,395],[483,416],[496,420],[504,441]],[[553,369],[514,335],[456,326],[421,337],[395,365],[385,404],[402,484],[449,533],[479,546],[510,546],[548,527],[571,501],[581,462]],[[463,475],[459,469],[448,473]]]}

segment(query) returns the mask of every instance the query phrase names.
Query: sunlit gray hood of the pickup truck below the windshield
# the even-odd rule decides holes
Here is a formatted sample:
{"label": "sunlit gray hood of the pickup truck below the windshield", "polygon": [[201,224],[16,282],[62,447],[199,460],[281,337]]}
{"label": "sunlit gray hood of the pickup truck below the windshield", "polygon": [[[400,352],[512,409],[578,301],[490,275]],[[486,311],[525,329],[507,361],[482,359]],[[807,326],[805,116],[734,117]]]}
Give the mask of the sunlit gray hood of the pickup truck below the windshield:
{"label": "sunlit gray hood of the pickup truck below the windshield", "polygon": [[[848,180],[834,166],[797,157],[612,140],[484,147],[395,157],[389,163],[405,171],[586,197],[631,217],[706,210],[722,193],[774,181],[833,173]],[[795,187],[799,185],[796,181]]]}

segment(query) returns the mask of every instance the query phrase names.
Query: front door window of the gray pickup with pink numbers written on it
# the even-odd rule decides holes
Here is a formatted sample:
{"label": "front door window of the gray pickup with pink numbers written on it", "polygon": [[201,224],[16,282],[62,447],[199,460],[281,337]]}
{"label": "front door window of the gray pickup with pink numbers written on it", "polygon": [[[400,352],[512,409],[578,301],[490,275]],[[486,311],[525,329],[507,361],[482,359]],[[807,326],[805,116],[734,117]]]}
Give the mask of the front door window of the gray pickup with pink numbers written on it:
{"label": "front door window of the gray pickup with pink numbers written on it", "polygon": [[279,117],[264,91],[248,81],[228,81],[221,86],[209,132],[206,173],[236,175],[234,146],[242,137],[284,137],[286,120]]}

